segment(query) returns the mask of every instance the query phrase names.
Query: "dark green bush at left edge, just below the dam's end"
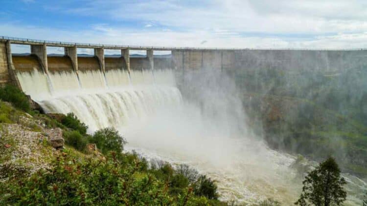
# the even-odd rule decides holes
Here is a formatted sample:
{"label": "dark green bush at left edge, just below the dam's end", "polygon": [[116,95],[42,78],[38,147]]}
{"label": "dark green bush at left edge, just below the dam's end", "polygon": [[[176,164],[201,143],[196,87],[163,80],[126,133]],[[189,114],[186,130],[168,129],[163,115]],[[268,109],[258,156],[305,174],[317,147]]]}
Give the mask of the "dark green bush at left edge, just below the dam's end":
{"label": "dark green bush at left edge, just below the dam's end", "polygon": [[12,103],[16,108],[25,112],[31,111],[27,96],[14,85],[6,84],[4,87],[0,87],[0,99]]}

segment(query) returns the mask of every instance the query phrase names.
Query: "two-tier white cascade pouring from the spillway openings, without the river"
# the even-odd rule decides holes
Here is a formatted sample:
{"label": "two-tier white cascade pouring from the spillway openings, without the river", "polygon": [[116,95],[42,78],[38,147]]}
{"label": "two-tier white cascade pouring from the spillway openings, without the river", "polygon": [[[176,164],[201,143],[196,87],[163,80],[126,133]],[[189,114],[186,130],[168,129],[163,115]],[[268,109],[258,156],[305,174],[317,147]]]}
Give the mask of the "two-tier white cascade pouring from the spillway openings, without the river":
{"label": "two-tier white cascade pouring from the spillway openings, without the river", "polygon": [[105,75],[99,70],[79,71],[79,79],[74,71],[48,75],[49,82],[46,74],[36,70],[17,74],[24,92],[46,113],[73,112],[89,126],[90,133],[108,126],[123,128],[182,102],[172,70],[157,70],[154,75],[133,70],[131,78],[127,71],[117,69]]}

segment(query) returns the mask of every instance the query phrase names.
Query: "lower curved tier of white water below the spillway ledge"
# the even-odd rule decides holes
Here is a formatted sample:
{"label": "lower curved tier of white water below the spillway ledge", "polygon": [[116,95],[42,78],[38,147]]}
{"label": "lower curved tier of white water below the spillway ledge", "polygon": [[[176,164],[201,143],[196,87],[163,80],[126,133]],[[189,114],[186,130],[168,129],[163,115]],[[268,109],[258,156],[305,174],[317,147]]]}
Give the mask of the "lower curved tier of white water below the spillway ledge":
{"label": "lower curved tier of white water below the spillway ledge", "polygon": [[90,132],[99,128],[127,126],[133,119],[143,119],[161,106],[177,106],[181,93],[175,87],[121,89],[96,94],[78,94],[39,102],[46,113],[73,112],[89,125]]}

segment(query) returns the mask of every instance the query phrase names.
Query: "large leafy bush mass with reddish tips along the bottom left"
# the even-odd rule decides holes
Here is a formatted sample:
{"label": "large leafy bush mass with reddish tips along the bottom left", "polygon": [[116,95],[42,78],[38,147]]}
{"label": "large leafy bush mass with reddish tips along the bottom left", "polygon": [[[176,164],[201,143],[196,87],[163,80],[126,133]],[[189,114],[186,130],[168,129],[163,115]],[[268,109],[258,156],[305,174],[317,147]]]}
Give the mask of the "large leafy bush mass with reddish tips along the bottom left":
{"label": "large leafy bush mass with reddish tips along the bottom left", "polygon": [[68,151],[49,171],[0,184],[4,205],[172,205],[165,185],[154,176],[136,172],[115,157],[80,159]]}

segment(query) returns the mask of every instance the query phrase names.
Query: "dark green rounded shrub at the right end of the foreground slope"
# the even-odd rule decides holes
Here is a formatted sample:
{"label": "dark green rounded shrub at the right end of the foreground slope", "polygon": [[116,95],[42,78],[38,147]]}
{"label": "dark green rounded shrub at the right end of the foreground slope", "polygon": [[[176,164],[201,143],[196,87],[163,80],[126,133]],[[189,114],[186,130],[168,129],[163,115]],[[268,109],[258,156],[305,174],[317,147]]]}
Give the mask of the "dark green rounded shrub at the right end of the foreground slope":
{"label": "dark green rounded shrub at the right end of the foreground slope", "polygon": [[218,199],[217,185],[206,175],[199,177],[194,187],[194,193],[198,196],[205,196],[210,200]]}

